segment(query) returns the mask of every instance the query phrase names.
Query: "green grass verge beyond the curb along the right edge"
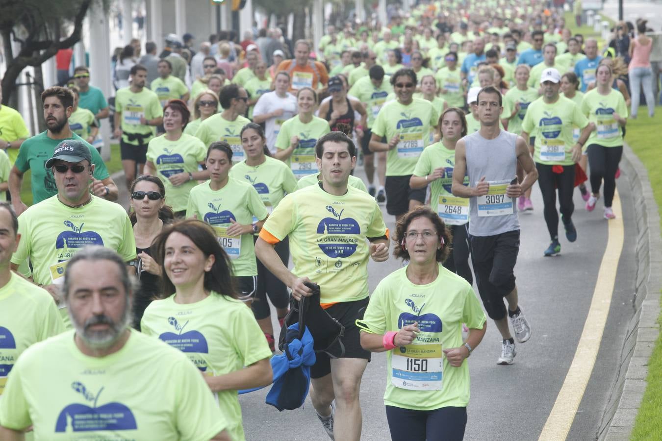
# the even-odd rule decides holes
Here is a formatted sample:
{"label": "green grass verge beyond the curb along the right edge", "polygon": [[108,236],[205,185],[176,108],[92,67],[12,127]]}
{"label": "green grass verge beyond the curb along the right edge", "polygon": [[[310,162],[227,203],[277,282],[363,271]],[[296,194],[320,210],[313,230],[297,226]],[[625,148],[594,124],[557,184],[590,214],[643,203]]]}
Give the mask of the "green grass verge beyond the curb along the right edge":
{"label": "green grass verge beyond the curb along the right edge", "polygon": [[[662,207],[662,159],[659,155],[659,134],[657,130],[662,124],[662,112],[657,112],[654,118],[648,118],[646,114],[646,109],[642,107],[639,110],[639,117],[636,120],[628,121],[626,141],[648,170],[653,196],[659,209]],[[657,322],[662,324],[662,315],[658,317]],[[636,441],[661,440],[662,335],[657,337],[655,342],[653,355],[648,364],[646,381],[648,384],[641,401],[641,408],[639,408],[631,439]]]}

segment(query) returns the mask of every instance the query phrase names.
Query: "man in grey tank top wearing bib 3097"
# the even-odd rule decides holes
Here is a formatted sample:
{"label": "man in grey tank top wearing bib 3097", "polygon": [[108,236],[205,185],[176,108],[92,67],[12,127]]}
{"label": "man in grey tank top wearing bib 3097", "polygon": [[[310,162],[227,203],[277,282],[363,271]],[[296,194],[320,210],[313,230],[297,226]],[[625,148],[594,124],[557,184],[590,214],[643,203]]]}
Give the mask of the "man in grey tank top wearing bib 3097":
{"label": "man in grey tank top wearing bib 3097", "polygon": [[[516,198],[538,179],[538,171],[524,139],[499,128],[503,111],[501,94],[495,87],[481,89],[477,100],[481,130],[465,136],[455,146],[453,194],[470,198],[469,241],[478,292],[485,311],[495,321],[503,339],[498,364],[512,364],[515,337],[523,343],[531,328],[518,306],[514,267],[520,248],[520,221]],[[518,183],[517,164],[526,177]],[[463,185],[465,172],[469,186]],[[508,301],[508,315],[503,298]]]}

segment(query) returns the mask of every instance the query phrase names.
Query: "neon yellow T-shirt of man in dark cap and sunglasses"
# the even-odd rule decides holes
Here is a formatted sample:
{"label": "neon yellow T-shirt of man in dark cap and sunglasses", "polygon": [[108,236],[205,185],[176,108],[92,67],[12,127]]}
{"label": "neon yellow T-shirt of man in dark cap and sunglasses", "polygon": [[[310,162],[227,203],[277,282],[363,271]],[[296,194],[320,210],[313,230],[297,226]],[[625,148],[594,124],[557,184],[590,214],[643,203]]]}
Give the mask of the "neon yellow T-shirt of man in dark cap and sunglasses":
{"label": "neon yellow T-shirt of man in dark cap and sunglasses", "polygon": [[[85,245],[103,245],[117,251],[122,261],[136,259],[131,221],[120,204],[97,196],[71,208],[52,196],[19,216],[21,242],[11,262],[30,258],[34,283],[64,283],[66,261]],[[64,310],[63,310],[64,311]]]}

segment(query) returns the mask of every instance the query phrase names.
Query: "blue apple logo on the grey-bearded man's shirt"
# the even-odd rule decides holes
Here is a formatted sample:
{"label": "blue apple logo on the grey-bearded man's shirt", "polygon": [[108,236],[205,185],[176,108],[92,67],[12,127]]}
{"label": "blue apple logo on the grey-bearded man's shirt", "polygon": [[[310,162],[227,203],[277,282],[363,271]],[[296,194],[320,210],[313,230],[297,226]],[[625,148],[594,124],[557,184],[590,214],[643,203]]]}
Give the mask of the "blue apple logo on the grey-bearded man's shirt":
{"label": "blue apple logo on the grey-bearded man's shirt", "polygon": [[79,381],[71,383],[71,388],[83,395],[91,403],[70,404],[60,412],[55,424],[56,432],[87,432],[91,430],[136,430],[136,419],[131,410],[122,403],[107,403],[97,407],[103,387],[97,395],[87,390]]}

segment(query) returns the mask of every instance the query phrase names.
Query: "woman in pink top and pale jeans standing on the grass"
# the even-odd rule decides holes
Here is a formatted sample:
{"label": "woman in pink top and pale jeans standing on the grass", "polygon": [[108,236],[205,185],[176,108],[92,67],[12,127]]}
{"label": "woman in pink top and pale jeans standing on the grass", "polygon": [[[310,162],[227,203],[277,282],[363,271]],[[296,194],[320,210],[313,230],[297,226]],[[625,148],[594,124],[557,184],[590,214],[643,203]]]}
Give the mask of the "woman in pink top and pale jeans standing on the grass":
{"label": "woman in pink top and pale jeans standing on the grass", "polygon": [[630,118],[637,118],[639,108],[639,93],[643,87],[643,95],[646,97],[648,116],[655,113],[655,97],[653,97],[653,71],[651,71],[651,48],[653,40],[648,38],[646,32],[646,20],[637,23],[637,38],[630,40],[630,90],[632,91],[632,108]]}

